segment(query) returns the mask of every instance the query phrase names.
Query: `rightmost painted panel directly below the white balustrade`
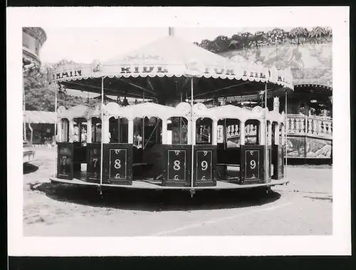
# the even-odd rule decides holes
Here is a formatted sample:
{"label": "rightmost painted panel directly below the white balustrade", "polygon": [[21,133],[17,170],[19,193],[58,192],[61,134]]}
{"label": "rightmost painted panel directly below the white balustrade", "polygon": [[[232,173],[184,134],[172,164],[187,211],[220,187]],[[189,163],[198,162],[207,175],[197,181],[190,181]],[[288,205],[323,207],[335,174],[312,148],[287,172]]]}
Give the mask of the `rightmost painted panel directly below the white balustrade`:
{"label": "rightmost painted panel directly below the white balustrade", "polygon": [[332,150],[332,141],[306,138],[306,157],[307,158],[330,158]]}

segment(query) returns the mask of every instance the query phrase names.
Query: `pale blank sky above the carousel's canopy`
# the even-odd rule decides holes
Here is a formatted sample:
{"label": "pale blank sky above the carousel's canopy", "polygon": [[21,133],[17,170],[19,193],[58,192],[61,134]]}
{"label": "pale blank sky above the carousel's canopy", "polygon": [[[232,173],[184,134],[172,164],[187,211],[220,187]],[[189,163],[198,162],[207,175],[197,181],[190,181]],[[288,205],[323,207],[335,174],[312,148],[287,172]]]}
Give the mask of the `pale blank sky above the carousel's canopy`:
{"label": "pale blank sky above the carousel's canopy", "polygon": [[[287,31],[290,28],[286,28]],[[168,35],[165,28],[46,28],[47,40],[41,48],[43,63],[63,59],[77,63],[105,61],[122,53],[145,46]],[[174,28],[174,35],[189,42],[212,40],[216,36],[249,31],[268,31],[272,28]]]}

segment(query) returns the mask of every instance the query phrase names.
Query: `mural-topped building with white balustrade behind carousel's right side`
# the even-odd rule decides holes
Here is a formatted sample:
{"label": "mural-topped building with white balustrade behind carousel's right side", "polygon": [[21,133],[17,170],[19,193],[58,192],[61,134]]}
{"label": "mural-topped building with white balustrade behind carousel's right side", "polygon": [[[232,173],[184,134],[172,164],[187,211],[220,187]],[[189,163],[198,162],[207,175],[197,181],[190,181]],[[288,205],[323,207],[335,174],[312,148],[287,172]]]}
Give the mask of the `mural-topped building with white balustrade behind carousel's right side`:
{"label": "mural-topped building with white balustrade behind carousel's right side", "polygon": [[[288,94],[288,158],[298,162],[332,162],[333,145],[333,33],[330,28],[302,27],[285,31],[238,33],[204,40],[202,48],[239,63],[290,68],[293,93]],[[206,105],[261,104],[259,95],[204,100]],[[285,98],[268,96],[268,108],[285,106]]]}

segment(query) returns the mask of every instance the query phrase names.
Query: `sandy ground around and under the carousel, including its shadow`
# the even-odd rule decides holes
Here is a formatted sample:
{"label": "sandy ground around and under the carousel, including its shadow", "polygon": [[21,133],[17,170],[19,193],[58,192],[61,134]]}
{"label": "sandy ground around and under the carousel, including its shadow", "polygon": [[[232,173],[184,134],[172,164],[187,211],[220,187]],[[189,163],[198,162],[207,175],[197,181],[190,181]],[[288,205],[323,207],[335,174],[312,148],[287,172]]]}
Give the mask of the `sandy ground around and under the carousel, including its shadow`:
{"label": "sandy ground around and under the carousel, including its shadow", "polygon": [[47,237],[332,234],[332,169],[288,167],[288,186],[188,192],[53,185],[54,149],[24,167],[23,234]]}

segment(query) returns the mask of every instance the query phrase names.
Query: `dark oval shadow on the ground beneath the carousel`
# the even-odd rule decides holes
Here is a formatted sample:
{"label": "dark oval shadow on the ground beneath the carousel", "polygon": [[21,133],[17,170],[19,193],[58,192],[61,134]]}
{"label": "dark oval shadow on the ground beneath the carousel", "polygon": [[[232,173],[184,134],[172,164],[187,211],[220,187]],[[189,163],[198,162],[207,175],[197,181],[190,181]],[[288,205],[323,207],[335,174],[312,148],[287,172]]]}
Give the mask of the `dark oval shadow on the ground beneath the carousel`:
{"label": "dark oval shadow on the ground beneath the carousel", "polygon": [[42,183],[31,189],[44,192],[51,199],[61,202],[157,212],[251,207],[268,204],[281,197],[278,192],[266,194],[264,189],[198,190],[193,198],[188,190],[113,188],[103,190],[103,197],[100,197],[96,187]]}

